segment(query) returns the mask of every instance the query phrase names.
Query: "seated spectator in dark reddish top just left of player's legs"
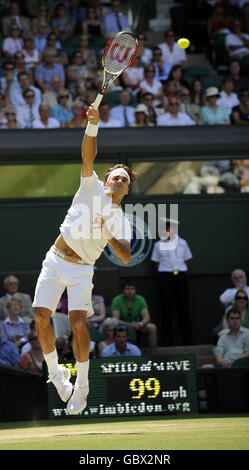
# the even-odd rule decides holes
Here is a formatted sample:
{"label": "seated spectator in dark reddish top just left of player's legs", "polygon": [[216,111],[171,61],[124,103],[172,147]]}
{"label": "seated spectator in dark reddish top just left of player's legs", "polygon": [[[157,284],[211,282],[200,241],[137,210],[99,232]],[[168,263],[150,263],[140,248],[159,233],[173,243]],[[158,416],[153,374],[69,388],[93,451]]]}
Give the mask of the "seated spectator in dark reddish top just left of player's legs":
{"label": "seated spectator in dark reddish top just left of player's legs", "polygon": [[31,344],[31,349],[21,355],[20,367],[32,372],[42,372],[44,357],[37,333],[30,332],[28,341]]}

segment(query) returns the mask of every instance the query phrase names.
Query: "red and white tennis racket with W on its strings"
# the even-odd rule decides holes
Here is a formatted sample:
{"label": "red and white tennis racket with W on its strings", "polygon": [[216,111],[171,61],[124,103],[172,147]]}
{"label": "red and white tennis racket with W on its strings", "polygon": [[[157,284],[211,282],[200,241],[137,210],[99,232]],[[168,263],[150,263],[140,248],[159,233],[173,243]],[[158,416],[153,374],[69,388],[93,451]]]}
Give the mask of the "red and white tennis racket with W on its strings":
{"label": "red and white tennis racket with W on its strings", "polygon": [[120,31],[108,41],[102,57],[103,83],[94,101],[95,109],[98,109],[108,86],[132,64],[137,50],[137,38],[129,31]]}

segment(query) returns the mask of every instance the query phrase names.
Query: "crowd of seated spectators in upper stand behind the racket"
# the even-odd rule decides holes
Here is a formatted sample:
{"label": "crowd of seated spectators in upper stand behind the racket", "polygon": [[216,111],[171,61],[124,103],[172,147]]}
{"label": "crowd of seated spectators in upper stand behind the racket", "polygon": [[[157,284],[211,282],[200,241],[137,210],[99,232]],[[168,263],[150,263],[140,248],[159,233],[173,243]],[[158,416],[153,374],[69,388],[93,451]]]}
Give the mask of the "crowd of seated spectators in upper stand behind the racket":
{"label": "crowd of seated spectators in upper stand behind the racket", "polygon": [[[249,2],[236,6],[233,21],[220,3],[209,5],[207,35],[212,47],[226,34],[222,85],[186,75],[188,56],[171,28],[153,45],[135,32],[137,58],[108,88],[100,127],[248,125]],[[132,31],[122,2],[5,0],[0,14],[0,129],[84,128],[102,82],[103,48],[118,31]]]}

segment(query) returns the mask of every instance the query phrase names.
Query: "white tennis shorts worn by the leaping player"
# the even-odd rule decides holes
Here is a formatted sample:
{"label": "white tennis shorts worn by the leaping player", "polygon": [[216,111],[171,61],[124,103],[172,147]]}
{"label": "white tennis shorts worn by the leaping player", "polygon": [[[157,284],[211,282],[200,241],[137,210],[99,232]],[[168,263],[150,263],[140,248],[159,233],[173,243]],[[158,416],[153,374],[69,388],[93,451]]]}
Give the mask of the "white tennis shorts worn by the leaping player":
{"label": "white tennis shorts worn by the leaping player", "polygon": [[67,288],[68,311],[85,310],[93,315],[93,266],[70,263],[48,251],[37,280],[33,307],[43,307],[54,313]]}

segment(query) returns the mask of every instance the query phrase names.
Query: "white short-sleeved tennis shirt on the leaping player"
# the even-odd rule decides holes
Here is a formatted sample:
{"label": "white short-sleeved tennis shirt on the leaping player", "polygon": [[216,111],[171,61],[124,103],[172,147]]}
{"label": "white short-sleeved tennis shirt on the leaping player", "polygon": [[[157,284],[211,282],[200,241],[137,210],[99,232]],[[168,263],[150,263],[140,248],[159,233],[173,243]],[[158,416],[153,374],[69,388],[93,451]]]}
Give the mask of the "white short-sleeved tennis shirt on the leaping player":
{"label": "white short-sleeved tennis shirt on the leaping player", "polygon": [[82,177],[71,207],[60,226],[65,242],[83,261],[94,265],[107,245],[99,226],[94,223],[101,215],[111,235],[131,241],[131,226],[120,206],[113,206],[112,198],[104,189],[104,183],[95,172]]}

